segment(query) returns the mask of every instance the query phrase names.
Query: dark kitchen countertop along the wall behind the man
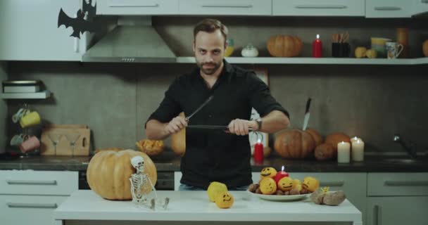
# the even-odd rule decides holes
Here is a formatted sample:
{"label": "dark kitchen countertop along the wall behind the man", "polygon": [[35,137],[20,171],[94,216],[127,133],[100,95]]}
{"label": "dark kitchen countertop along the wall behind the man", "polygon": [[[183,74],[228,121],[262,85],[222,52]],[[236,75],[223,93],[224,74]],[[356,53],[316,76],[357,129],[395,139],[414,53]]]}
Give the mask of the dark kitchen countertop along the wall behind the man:
{"label": "dark kitchen countertop along the wall behind the man", "polygon": [[[262,164],[251,161],[253,172],[260,172],[263,167],[281,169],[284,165],[292,172],[428,172],[428,158],[421,157],[416,162],[390,162],[392,156],[366,155],[364,162],[339,164],[336,161],[285,160],[277,156],[266,158]],[[86,170],[91,157],[40,156],[29,158],[6,158],[0,160],[0,169],[34,169],[34,170]],[[180,171],[180,157],[174,153],[162,153],[152,157],[159,172]]]}

